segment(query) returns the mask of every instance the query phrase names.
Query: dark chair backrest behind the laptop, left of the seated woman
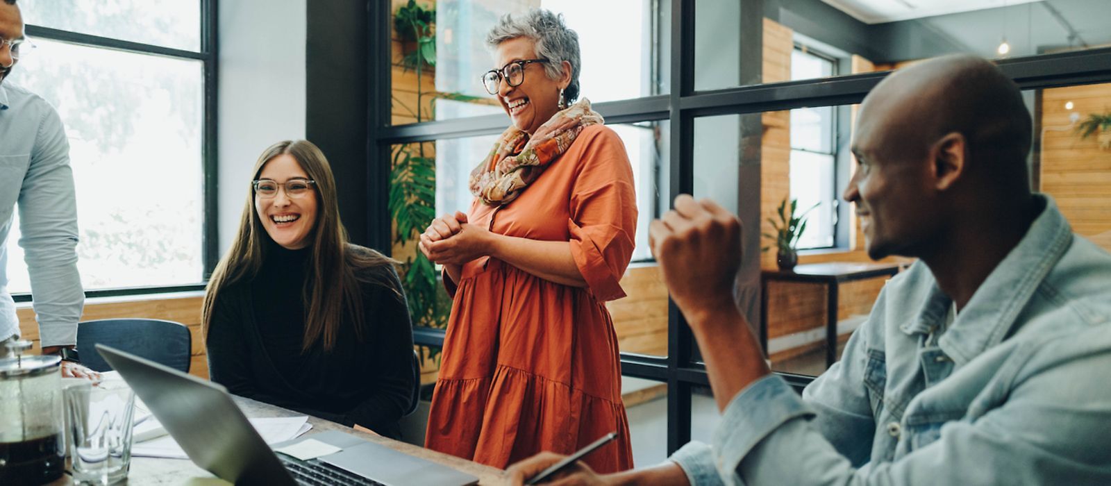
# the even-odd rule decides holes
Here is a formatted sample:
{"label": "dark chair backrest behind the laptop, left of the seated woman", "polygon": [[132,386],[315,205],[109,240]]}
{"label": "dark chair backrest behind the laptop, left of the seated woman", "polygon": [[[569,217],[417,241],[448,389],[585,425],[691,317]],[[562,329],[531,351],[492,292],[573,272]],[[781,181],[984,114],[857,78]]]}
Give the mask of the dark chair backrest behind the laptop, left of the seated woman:
{"label": "dark chair backrest behind the laptop, left of the seated woman", "polygon": [[104,318],[77,326],[81,364],[96,372],[112,367],[97,353],[97,343],[189,373],[192,340],[189,327],[157,318]]}

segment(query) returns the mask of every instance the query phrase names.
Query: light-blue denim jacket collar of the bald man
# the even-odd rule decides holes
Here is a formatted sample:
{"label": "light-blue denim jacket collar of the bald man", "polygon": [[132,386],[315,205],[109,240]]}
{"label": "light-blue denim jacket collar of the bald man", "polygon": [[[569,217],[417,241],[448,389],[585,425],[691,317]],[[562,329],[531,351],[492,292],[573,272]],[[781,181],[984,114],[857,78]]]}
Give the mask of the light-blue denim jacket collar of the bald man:
{"label": "light-blue denim jacket collar of the bald man", "polygon": [[[1025,236],[988,275],[938,341],[957,365],[999,344],[1011,332],[1024,304],[1072,243],[1072,229],[1053,199],[1034,195],[1044,207]],[[925,334],[945,320],[952,300],[937,282],[914,320],[900,326],[907,334]]]}

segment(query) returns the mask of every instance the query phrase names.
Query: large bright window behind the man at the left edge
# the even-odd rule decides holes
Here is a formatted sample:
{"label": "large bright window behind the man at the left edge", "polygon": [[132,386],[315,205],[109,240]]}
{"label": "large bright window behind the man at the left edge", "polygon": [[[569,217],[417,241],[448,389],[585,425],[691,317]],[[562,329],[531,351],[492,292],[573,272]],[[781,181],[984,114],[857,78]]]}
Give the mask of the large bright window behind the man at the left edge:
{"label": "large bright window behind the man at the left edge", "polygon": [[[202,283],[207,133],[214,102],[209,1],[21,0],[37,45],[6,83],[58,109],[77,188],[86,291]],[[30,291],[19,222],[8,240],[12,293]]]}

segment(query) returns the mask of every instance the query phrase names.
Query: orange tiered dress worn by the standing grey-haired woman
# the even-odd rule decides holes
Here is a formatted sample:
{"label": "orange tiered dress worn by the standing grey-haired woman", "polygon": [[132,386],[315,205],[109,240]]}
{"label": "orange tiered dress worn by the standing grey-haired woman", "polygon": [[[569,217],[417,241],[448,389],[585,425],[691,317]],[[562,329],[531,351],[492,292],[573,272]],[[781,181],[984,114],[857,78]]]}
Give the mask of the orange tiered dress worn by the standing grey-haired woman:
{"label": "orange tiered dress worn by the standing grey-haired woman", "polygon": [[618,439],[585,463],[632,468],[613,321],[623,297],[637,200],[621,139],[590,125],[509,204],[476,200],[468,221],[494,233],[571,243],[588,287],[553,283],[491,257],[463,265],[432,397],[428,448],[504,468],[542,450]]}

